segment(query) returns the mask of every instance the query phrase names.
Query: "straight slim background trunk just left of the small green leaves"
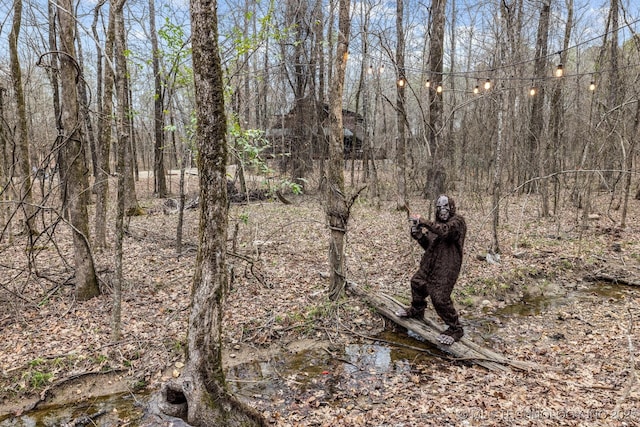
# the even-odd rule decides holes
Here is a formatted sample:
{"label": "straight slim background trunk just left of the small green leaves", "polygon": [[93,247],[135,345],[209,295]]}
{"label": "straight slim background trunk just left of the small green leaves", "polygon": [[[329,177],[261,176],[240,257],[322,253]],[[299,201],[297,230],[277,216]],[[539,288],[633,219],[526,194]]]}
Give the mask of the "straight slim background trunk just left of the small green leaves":
{"label": "straight slim background trunk just left of the small green leaves", "polygon": [[167,197],[167,178],[164,170],[164,100],[162,90],[162,76],[160,74],[160,50],[158,49],[158,34],[156,33],[155,0],[149,0],[149,33],[151,34],[151,49],[153,50],[152,65],[154,76],[153,98],[153,133],[155,137],[153,150],[153,191],[160,198]]}

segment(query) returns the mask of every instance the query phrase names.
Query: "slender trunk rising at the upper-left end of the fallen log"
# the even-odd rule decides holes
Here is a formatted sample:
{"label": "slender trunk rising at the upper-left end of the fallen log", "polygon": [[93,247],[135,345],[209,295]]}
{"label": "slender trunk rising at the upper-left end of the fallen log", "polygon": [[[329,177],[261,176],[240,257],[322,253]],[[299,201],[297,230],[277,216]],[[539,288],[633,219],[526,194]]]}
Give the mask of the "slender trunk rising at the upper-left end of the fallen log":
{"label": "slender trunk rising at the upper-left end of the fallen log", "polygon": [[327,168],[327,220],[329,222],[329,296],[332,300],[344,294],[345,234],[349,222],[349,204],[344,188],[344,130],[342,126],[342,94],[349,52],[350,0],[340,0],[338,13],[338,46],[335,74],[329,94],[329,162]]}

